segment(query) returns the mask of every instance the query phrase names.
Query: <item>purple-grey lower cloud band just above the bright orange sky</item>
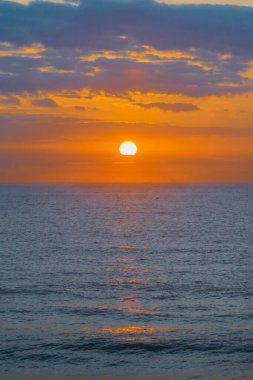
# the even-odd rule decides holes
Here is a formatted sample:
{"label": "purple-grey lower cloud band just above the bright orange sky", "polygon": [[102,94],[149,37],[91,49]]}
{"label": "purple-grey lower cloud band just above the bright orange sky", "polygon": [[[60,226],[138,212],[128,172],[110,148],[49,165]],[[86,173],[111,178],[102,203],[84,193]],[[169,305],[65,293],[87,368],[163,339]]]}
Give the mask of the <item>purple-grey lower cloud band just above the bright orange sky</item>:
{"label": "purple-grey lower cloud band just above the bright orange sky", "polygon": [[[213,69],[210,67],[209,70],[204,70],[197,60],[191,61],[190,64],[183,59],[156,64],[152,61],[136,62],[131,58],[117,58],[98,59],[91,63],[76,58],[76,60],[73,59],[72,70],[67,71],[62,66],[54,65],[55,55],[61,53],[54,50],[52,61],[47,56],[46,62],[45,58],[36,60],[20,57],[8,57],[2,60],[0,58],[3,69],[13,70],[13,75],[1,78],[0,91],[34,93],[38,90],[67,89],[72,93],[74,89],[90,88],[93,92],[103,90],[118,95],[128,91],[154,91],[199,97],[210,94],[240,93],[252,89],[252,84],[246,83],[245,78],[240,76],[240,72],[247,67],[244,58],[241,62],[235,59],[233,62],[220,63],[217,55],[204,57],[202,53],[203,65],[209,64],[214,67]],[[71,52],[69,54],[71,55]],[[61,60],[65,60],[65,53]],[[230,82],[238,86],[231,87]],[[223,85],[217,86],[219,83]]]}

